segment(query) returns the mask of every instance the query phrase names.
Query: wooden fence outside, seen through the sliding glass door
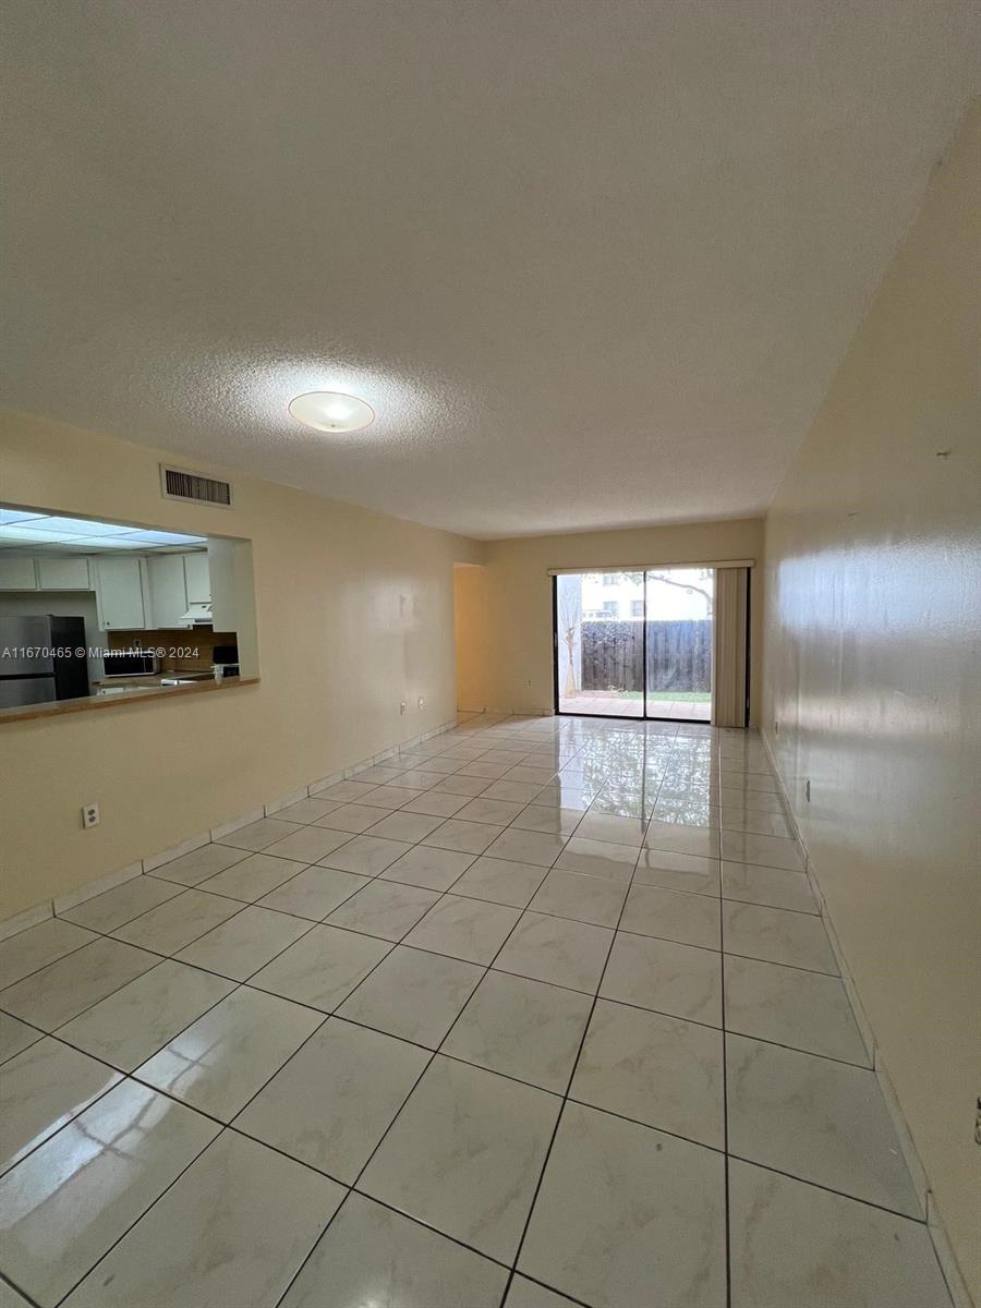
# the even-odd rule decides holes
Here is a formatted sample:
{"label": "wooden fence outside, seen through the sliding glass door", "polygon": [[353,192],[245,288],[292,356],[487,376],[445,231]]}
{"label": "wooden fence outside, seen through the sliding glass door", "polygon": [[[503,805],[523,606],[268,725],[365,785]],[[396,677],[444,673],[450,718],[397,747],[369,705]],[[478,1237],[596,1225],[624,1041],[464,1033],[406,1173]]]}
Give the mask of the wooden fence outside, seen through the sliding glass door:
{"label": "wooden fence outside, seen through the sliding glass door", "polygon": [[[647,623],[647,688],[712,689],[712,623]],[[582,624],[582,689],[644,691],[644,620]]]}

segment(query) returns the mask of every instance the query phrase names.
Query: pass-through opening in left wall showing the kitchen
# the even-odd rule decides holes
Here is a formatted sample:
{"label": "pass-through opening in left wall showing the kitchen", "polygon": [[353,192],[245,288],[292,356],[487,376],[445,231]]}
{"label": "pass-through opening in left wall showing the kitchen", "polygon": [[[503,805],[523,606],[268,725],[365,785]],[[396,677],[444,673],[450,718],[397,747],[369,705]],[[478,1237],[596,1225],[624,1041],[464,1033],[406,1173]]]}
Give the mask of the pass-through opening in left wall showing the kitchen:
{"label": "pass-through opening in left wall showing the kitchen", "polygon": [[0,504],[0,717],[256,676],[250,540]]}

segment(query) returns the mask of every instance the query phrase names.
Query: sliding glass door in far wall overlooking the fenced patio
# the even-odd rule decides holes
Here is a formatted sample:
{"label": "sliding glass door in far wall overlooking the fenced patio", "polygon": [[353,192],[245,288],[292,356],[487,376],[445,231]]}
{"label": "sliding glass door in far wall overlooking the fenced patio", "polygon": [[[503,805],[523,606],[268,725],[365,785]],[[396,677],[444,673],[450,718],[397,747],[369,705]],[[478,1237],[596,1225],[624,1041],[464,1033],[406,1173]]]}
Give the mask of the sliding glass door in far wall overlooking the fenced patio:
{"label": "sliding glass door in far wall overlooking the fenced patio", "polygon": [[556,712],[708,722],[714,572],[555,578]]}

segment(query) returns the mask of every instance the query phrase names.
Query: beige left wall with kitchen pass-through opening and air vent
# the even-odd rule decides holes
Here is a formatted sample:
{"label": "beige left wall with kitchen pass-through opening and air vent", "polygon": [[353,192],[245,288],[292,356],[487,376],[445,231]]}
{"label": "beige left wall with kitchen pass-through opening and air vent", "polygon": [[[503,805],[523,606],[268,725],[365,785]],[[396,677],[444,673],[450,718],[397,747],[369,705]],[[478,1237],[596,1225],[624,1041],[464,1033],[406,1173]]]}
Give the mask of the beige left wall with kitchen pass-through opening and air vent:
{"label": "beige left wall with kitchen pass-through opening and air vent", "polygon": [[234,475],[230,511],[174,504],[162,456],[3,415],[0,500],[251,538],[262,684],[0,725],[0,918],[454,714],[453,564],[479,545]]}

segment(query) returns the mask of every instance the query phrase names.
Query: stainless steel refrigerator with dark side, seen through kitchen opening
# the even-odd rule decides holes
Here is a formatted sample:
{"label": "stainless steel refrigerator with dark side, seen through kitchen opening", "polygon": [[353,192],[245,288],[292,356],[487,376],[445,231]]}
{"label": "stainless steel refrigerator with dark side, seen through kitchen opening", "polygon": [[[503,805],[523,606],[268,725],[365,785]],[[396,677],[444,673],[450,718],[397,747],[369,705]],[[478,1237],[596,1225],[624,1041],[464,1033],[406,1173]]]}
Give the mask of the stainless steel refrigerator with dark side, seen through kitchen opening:
{"label": "stainless steel refrigerator with dark side, seen through kitchen opening", "polygon": [[0,616],[0,709],[90,695],[86,655],[81,617]]}

